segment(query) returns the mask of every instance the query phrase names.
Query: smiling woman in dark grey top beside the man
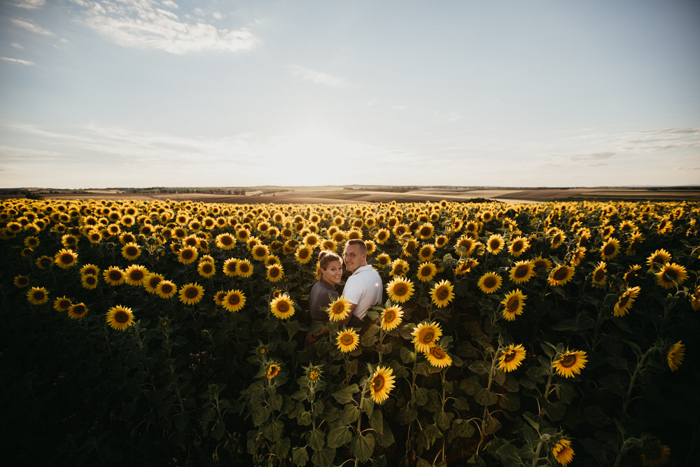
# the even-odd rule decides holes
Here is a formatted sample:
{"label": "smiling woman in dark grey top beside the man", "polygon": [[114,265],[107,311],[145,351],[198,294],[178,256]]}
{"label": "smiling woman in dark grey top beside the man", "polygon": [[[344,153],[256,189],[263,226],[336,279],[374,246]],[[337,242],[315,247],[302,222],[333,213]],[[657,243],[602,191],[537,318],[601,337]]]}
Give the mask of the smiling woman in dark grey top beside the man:
{"label": "smiling woman in dark grey top beside the man", "polygon": [[[328,322],[328,305],[340,296],[335,286],[340,283],[342,275],[343,265],[340,256],[330,251],[318,253],[318,282],[309,292],[309,313],[313,323]],[[326,334],[328,334],[328,328],[323,328],[315,335],[309,332],[307,342],[309,344],[316,342],[319,337]]]}

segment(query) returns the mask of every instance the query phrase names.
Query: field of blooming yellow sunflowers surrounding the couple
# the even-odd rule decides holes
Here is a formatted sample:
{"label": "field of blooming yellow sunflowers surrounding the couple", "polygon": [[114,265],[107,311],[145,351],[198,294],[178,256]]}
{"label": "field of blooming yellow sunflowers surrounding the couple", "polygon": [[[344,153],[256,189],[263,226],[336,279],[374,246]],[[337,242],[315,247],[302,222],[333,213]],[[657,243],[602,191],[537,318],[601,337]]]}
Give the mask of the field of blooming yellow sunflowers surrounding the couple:
{"label": "field of blooming yellow sunflowers surrounding the couple", "polygon": [[[694,202],[0,202],[5,465],[700,455]],[[316,258],[384,302],[314,344]],[[341,284],[342,286],[342,284]],[[339,292],[342,287],[339,287]]]}

